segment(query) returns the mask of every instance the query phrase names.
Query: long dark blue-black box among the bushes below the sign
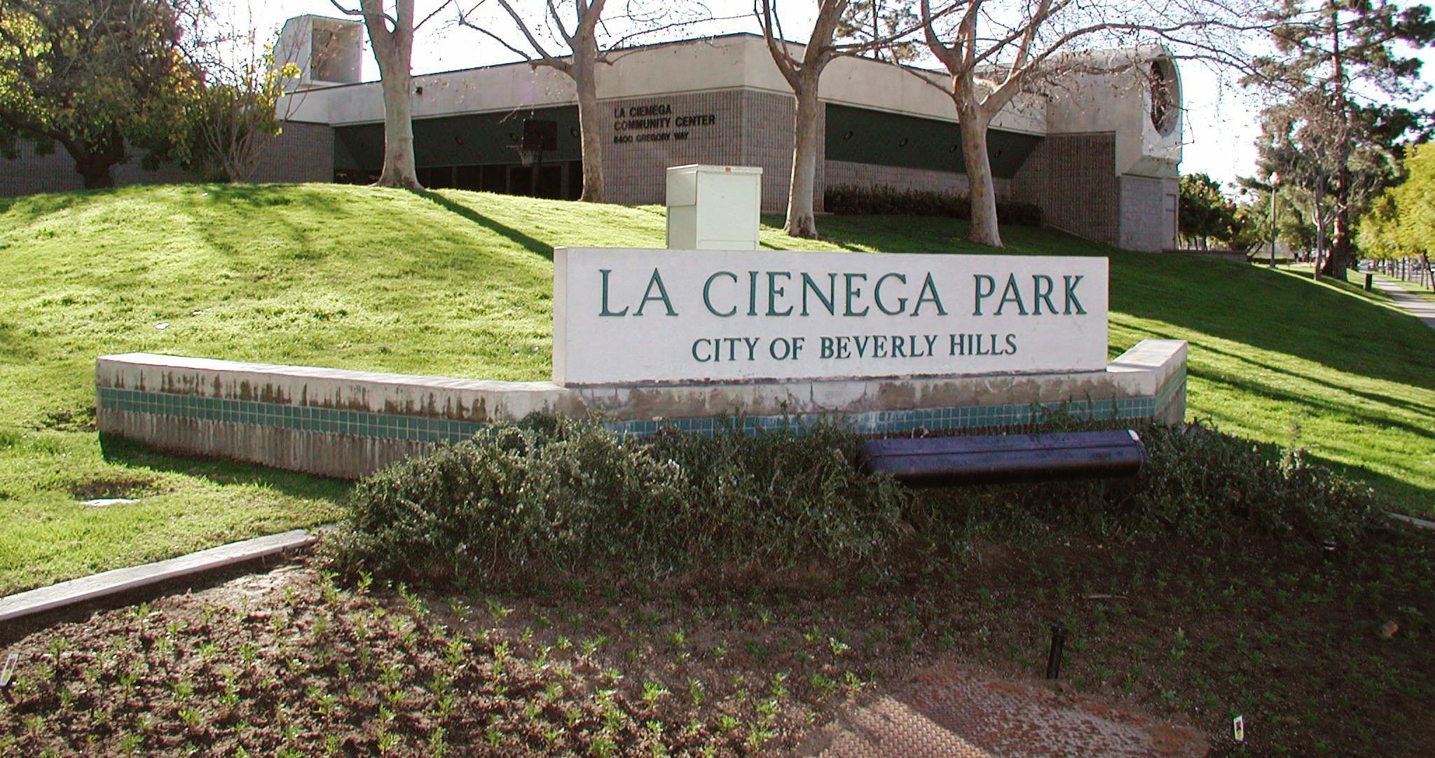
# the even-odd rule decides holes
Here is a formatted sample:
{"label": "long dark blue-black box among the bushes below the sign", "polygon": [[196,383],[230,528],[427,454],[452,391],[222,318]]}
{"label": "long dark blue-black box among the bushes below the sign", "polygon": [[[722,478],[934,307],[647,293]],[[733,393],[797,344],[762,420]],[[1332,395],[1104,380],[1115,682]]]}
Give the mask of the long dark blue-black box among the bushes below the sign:
{"label": "long dark blue-black box among the bushes below the sign", "polygon": [[1129,429],[994,436],[872,439],[857,465],[914,487],[1126,477],[1147,449]]}

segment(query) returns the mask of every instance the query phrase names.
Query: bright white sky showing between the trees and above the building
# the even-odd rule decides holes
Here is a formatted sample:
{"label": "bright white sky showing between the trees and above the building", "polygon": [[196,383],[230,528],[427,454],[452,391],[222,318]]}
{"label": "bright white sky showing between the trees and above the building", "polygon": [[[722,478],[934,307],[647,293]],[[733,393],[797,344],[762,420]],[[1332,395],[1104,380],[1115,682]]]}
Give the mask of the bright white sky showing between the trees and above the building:
{"label": "bright white sky showing between the trees and above the building", "polygon": [[[237,13],[241,20],[253,13],[254,27],[261,32],[271,30],[273,34],[277,34],[284,20],[293,16],[306,13],[340,14],[329,0],[261,0],[255,4],[244,4],[244,0],[227,1],[231,3],[231,11]],[[436,0],[419,0],[419,16],[422,17],[426,10],[432,10],[436,4]],[[357,6],[357,0],[346,1],[346,7],[349,6]],[[709,7],[716,16],[739,16],[745,14],[752,4],[751,0],[710,0]],[[784,6],[784,9],[786,7],[799,9],[804,4],[791,3]],[[452,27],[448,23],[451,17],[452,13],[445,10],[419,30],[413,46],[413,73],[515,60],[514,53],[478,32]],[[784,30],[789,37],[805,39],[811,23],[811,19],[804,19],[801,13],[789,14],[784,10]],[[703,29],[705,34],[725,32],[758,32],[758,24],[756,20],[745,17]],[[367,40],[364,45],[367,46]],[[1426,52],[1422,57],[1426,59],[1425,76],[1429,79],[1435,76],[1432,73],[1435,72],[1435,53]],[[1234,182],[1237,177],[1253,175],[1256,172],[1256,139],[1260,136],[1258,96],[1243,90],[1231,80],[1230,75],[1221,76],[1200,62],[1184,62],[1180,70],[1185,105],[1185,145],[1181,172],[1210,174],[1221,182]],[[363,76],[364,79],[377,79],[379,76],[372,55],[364,56]],[[1419,105],[1435,108],[1435,93],[1426,95]]]}

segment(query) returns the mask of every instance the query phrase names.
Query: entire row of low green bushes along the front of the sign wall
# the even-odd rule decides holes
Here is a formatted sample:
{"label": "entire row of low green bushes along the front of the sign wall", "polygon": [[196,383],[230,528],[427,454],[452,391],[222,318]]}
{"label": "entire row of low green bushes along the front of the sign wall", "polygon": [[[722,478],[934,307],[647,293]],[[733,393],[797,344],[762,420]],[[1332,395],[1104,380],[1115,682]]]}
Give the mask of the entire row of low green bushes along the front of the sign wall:
{"label": "entire row of low green bushes along the front of the sign wall", "polygon": [[857,474],[860,438],[827,425],[634,441],[591,422],[499,424],[363,481],[342,554],[420,580],[811,566],[885,574],[947,556],[979,530],[1346,540],[1373,513],[1369,490],[1299,451],[1270,459],[1201,426],[1141,434],[1151,461],[1128,479],[911,492]]}

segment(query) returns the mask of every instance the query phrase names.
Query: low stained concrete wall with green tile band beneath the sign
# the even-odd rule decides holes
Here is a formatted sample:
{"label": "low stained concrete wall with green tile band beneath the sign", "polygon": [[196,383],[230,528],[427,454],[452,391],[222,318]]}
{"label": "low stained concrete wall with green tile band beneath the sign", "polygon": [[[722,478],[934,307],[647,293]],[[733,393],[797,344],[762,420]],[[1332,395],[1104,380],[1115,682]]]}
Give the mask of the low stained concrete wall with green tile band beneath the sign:
{"label": "low stained concrete wall with green tile band beneath the sign", "polygon": [[710,432],[738,415],[749,429],[841,416],[860,434],[901,434],[1025,424],[1062,403],[1178,422],[1185,350],[1145,340],[1082,373],[585,388],[128,353],[96,360],[95,405],[100,432],[171,452],[354,478],[535,411],[630,435]]}

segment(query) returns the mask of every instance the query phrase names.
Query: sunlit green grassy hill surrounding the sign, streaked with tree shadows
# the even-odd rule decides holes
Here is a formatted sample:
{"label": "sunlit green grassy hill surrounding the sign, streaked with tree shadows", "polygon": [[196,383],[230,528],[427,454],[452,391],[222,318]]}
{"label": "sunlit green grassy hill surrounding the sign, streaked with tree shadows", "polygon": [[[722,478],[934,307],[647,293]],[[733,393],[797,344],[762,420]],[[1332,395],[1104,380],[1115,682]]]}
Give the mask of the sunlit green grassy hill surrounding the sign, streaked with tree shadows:
{"label": "sunlit green grassy hill surrounding the sign, streaked with tree shadows", "polygon": [[[776,220],[765,220],[769,224]],[[773,248],[982,253],[964,224],[824,218]],[[1111,353],[1191,342],[1188,415],[1435,513],[1435,332],[1353,287],[1009,228],[1009,251],[1111,257]],[[336,515],[347,484],[121,446],[93,359],[148,350],[489,379],[550,372],[552,245],[662,247],[657,207],[339,185],[0,200],[0,594]],[[136,502],[96,508],[93,497]]]}

